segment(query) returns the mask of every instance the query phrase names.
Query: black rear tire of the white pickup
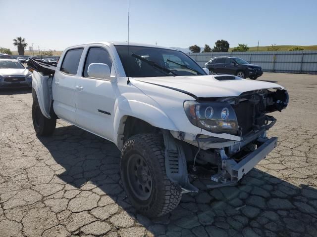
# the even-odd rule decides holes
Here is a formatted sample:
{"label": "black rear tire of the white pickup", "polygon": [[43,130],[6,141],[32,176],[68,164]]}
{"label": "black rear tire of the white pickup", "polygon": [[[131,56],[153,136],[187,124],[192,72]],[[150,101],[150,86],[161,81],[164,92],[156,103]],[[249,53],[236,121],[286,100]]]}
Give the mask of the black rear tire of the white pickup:
{"label": "black rear tire of the white pickup", "polygon": [[37,98],[33,100],[32,104],[32,120],[34,130],[39,136],[50,136],[53,134],[56,127],[56,119],[46,118],[40,109]]}

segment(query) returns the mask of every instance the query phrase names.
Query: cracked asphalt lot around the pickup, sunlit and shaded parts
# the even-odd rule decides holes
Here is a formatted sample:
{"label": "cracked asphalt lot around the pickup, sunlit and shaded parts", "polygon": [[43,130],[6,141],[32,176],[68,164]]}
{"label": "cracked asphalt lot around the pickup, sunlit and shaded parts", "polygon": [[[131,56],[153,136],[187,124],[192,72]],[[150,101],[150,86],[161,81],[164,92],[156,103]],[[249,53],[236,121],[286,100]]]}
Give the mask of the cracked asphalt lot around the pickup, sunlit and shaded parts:
{"label": "cracked asphalt lot around the pickup, sunlit and shaded parts", "polygon": [[317,236],[317,75],[264,73],[290,103],[273,113],[278,146],[233,187],[184,195],[171,213],[136,213],[122,189],[119,151],[57,120],[35,135],[30,90],[0,90],[0,237]]}

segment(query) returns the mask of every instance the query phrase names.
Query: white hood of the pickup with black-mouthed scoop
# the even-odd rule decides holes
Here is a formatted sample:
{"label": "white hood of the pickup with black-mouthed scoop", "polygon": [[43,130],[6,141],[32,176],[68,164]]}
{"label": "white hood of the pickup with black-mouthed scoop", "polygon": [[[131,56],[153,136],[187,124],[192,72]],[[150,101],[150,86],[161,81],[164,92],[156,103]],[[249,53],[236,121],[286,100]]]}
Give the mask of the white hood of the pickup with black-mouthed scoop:
{"label": "white hood of the pickup with black-mouthed scoop", "polygon": [[174,89],[186,94],[193,94],[196,97],[231,97],[239,96],[246,91],[280,88],[284,87],[261,80],[241,79],[230,76],[232,80],[215,79],[221,76],[177,76],[177,77],[154,77],[134,78],[145,83],[151,83],[165,88]]}

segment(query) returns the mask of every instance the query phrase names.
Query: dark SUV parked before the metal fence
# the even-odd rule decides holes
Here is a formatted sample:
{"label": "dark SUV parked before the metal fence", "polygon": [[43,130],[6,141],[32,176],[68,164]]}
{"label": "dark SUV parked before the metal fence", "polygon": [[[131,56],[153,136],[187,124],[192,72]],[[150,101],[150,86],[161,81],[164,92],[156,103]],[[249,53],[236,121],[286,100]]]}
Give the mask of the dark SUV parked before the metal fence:
{"label": "dark SUV parked before the metal fence", "polygon": [[257,79],[263,74],[262,68],[258,65],[250,64],[241,58],[234,57],[214,57],[205,64],[211,75],[231,74],[240,78]]}

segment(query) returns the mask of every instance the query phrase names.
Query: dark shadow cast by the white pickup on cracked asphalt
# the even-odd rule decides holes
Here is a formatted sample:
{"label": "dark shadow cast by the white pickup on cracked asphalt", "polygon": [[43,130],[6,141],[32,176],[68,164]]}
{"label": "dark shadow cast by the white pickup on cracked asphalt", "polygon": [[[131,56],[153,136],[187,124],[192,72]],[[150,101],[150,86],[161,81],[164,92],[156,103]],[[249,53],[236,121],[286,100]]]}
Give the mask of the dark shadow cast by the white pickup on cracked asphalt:
{"label": "dark shadow cast by the white pickup on cracked asphalt", "polygon": [[[258,169],[234,187],[185,194],[171,213],[153,220],[138,214],[120,183],[120,153],[115,145],[75,126],[39,137],[64,167],[58,177],[82,190],[107,195],[155,236],[317,236],[317,191],[296,187]],[[92,183],[95,186],[87,185]]]}

